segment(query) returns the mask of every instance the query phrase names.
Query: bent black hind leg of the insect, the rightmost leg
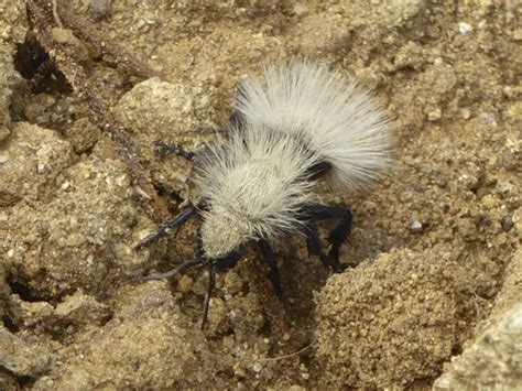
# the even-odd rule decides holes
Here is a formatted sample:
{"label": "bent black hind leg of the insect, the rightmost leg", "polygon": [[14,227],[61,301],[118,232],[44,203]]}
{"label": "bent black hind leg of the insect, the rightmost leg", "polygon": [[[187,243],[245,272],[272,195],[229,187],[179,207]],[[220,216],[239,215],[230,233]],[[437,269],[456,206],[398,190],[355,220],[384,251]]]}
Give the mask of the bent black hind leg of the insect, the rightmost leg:
{"label": "bent black hind leg of the insect, the rightmost leg", "polygon": [[317,205],[308,209],[308,213],[313,220],[328,220],[338,219],[339,224],[335,227],[329,235],[329,242],[331,245],[328,256],[335,261],[339,262],[339,248],[346,238],[350,235],[352,217],[348,209],[344,209],[338,206],[326,206]]}

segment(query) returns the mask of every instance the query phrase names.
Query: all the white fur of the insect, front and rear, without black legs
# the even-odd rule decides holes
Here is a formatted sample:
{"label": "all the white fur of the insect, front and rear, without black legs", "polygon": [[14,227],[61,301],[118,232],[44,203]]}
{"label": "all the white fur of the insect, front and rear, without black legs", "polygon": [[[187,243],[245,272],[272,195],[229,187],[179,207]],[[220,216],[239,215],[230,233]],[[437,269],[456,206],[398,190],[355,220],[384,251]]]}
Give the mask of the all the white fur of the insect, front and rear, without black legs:
{"label": "all the white fur of the insect, front and rear, without black legs", "polygon": [[[359,189],[389,165],[389,118],[369,93],[322,66],[293,62],[248,80],[236,97],[240,123],[203,158],[199,191],[205,257],[227,256],[249,239],[298,231],[317,172]],[[319,174],[323,174],[320,172]]]}

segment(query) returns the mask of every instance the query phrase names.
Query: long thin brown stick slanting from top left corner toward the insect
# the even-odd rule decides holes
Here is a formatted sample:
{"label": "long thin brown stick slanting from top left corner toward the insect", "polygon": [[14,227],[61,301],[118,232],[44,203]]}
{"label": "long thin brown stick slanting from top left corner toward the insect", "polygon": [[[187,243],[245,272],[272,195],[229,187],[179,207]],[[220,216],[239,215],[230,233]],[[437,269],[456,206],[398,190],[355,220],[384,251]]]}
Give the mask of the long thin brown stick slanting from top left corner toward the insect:
{"label": "long thin brown stick slanting from top left corner toward the insect", "polygon": [[112,116],[105,102],[94,93],[84,68],[76,64],[61,45],[54,41],[51,33],[53,4],[43,0],[25,0],[25,4],[29,11],[29,19],[37,33],[40,44],[54,59],[57,68],[65,75],[78,96],[90,108],[99,121],[101,129],[106,131],[118,145],[132,183],[138,192],[145,196],[154,219],[157,222],[166,220],[170,213],[164,202],[155,193],[149,175],[138,159],[134,145],[124,127]]}

